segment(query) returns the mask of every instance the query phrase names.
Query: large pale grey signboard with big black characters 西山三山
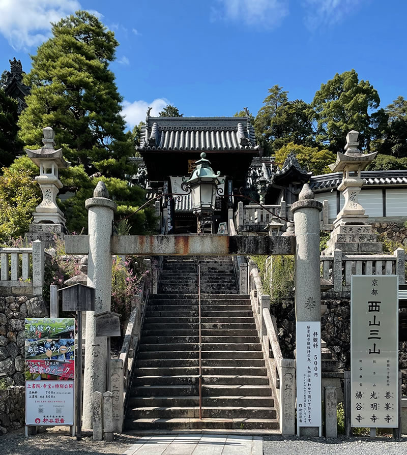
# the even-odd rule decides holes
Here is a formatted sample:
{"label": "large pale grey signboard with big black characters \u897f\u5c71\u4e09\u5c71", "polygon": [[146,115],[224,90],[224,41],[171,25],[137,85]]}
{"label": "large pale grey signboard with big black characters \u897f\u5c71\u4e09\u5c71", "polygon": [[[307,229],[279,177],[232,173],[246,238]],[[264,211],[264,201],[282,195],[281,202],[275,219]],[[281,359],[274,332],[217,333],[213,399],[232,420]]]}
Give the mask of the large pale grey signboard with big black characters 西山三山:
{"label": "large pale grey signboard with big black characters \u897f\u5c71\u4e09\u5c71", "polygon": [[398,277],[352,276],[351,425],[398,426]]}

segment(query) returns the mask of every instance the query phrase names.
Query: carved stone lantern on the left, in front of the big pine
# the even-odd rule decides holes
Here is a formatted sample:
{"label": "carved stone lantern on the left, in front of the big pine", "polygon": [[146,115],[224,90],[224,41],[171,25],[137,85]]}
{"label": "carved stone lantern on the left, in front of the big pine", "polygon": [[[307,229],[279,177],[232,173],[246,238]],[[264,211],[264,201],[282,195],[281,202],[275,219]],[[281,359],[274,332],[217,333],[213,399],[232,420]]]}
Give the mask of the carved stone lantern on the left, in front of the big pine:
{"label": "carved stone lantern on the left, in front of the big pine", "polygon": [[56,205],[56,196],[63,187],[58,171],[71,165],[62,156],[62,148],[55,150],[55,133],[52,128],[43,130],[43,147],[37,150],[26,149],[30,158],[39,168],[40,175],[35,179],[40,185],[43,199],[35,209],[34,223],[30,225],[30,232],[25,234],[28,241],[41,240],[50,244],[54,237],[63,238],[65,232],[65,218],[62,210]]}

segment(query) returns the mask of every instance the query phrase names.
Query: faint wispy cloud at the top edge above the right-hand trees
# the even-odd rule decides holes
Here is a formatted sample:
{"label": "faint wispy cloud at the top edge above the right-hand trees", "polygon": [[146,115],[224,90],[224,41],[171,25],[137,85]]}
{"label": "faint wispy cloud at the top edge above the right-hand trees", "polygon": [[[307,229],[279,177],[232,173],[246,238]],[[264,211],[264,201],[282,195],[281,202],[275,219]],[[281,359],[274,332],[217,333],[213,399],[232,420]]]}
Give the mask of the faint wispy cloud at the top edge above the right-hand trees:
{"label": "faint wispy cloud at the top edge above the right-hand trees", "polygon": [[305,0],[307,10],[304,18],[306,26],[313,30],[318,26],[333,25],[343,17],[355,12],[364,0]]}

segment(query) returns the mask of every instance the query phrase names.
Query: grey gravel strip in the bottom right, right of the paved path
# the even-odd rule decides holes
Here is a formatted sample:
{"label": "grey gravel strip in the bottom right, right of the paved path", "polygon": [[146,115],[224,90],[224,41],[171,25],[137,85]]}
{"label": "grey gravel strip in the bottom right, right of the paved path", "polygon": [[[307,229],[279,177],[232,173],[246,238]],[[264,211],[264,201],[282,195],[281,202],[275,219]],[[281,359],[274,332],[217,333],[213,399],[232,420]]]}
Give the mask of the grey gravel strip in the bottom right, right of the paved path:
{"label": "grey gravel strip in the bottom right, right of the paved path", "polygon": [[264,455],[406,455],[407,437],[391,438],[309,439],[266,436]]}

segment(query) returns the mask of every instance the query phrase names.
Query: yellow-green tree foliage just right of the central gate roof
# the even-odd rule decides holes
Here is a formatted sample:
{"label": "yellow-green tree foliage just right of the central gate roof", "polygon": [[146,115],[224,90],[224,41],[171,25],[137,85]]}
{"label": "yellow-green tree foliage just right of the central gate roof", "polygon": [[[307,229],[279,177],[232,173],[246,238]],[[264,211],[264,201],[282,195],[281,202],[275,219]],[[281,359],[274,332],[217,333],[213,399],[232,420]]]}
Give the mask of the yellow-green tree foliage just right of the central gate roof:
{"label": "yellow-green tree foliage just right of the central gate roof", "polygon": [[289,143],[276,151],[276,162],[282,165],[290,153],[294,153],[301,166],[314,175],[331,172],[328,164],[334,163],[336,160],[336,156],[330,150]]}

